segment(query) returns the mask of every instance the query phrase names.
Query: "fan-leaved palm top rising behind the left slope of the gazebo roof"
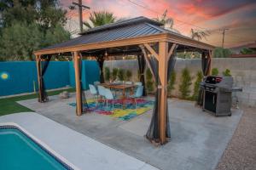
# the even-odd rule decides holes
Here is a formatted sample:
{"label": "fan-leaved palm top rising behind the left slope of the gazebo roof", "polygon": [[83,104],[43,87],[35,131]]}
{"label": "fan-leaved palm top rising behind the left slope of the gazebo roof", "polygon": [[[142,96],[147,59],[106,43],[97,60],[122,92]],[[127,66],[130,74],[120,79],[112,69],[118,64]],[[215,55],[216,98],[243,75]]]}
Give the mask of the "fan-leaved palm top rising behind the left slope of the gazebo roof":
{"label": "fan-leaved palm top rising behind the left slope of the gazebo roof", "polygon": [[89,21],[84,21],[84,26],[88,29],[94,28],[96,26],[104,26],[116,21],[116,17],[113,13],[108,11],[99,11],[90,13]]}

